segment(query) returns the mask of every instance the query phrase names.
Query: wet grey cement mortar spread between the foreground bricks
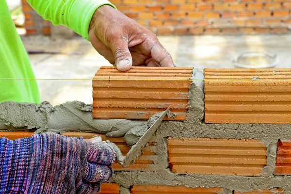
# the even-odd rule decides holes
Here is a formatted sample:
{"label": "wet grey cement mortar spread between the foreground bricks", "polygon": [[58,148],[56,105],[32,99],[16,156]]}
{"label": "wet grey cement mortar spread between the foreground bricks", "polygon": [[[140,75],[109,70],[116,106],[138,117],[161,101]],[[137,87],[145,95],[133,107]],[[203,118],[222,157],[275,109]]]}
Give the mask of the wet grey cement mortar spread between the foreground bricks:
{"label": "wet grey cement mortar spread between the foreground bricks", "polygon": [[[203,73],[194,69],[193,79],[202,80]],[[291,139],[291,124],[206,124],[204,118],[204,84],[193,81],[190,86],[187,120],[164,121],[157,130],[158,165],[156,172],[116,172],[112,180],[125,188],[131,185],[185,185],[187,187],[222,187],[224,194],[230,191],[249,192],[254,189],[282,188],[291,193],[291,177],[274,176],[276,143],[278,139]],[[124,119],[92,119],[92,105],[66,102],[52,107],[48,102],[41,105],[4,102],[0,103],[0,130],[37,129],[36,133],[97,132],[111,137],[124,136],[146,121]],[[174,174],[168,169],[167,137],[258,139],[267,146],[267,166],[261,177]]]}

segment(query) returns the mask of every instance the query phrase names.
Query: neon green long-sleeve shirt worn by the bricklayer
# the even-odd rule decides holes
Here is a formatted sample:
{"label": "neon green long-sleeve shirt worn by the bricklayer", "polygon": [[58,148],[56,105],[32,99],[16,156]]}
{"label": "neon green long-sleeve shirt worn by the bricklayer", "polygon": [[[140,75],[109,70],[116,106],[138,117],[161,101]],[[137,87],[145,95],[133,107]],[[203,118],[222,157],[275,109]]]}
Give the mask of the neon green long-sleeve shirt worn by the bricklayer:
{"label": "neon green long-sleeve shirt worn by the bricklayer", "polygon": [[[87,40],[90,21],[97,8],[104,4],[114,7],[107,0],[27,1],[44,19],[54,25],[65,25]],[[32,66],[16,32],[6,0],[0,0],[0,16],[0,102],[40,103]]]}

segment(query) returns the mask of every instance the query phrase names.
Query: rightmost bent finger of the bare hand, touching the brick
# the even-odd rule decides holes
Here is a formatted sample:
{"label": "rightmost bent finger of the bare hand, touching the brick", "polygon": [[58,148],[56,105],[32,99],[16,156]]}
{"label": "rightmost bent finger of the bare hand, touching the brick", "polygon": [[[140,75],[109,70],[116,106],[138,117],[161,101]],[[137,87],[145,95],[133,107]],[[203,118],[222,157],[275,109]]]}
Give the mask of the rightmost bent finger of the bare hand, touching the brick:
{"label": "rightmost bent finger of the bare hand, touching the brick", "polygon": [[162,67],[175,67],[172,56],[163,48],[161,43],[156,43],[151,49],[153,60]]}

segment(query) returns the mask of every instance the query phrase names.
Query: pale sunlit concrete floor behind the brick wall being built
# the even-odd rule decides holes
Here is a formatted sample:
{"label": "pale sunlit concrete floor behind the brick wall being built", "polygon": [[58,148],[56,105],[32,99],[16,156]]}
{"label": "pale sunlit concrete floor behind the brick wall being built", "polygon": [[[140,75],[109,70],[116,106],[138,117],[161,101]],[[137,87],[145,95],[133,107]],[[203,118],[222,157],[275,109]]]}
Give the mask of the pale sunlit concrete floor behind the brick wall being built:
{"label": "pale sunlit concrete floor behind the brick wall being built", "polygon": [[[232,59],[246,51],[277,54],[276,67],[291,67],[291,35],[227,35],[227,36],[159,36],[162,45],[172,55],[177,66],[204,68],[235,68]],[[51,40],[49,37],[22,37],[27,50],[81,52],[82,54],[30,55],[36,78],[92,79],[100,66],[109,66],[92,48],[90,42],[77,37],[73,40]],[[79,100],[92,103],[92,81],[39,80],[43,101],[52,105]]]}

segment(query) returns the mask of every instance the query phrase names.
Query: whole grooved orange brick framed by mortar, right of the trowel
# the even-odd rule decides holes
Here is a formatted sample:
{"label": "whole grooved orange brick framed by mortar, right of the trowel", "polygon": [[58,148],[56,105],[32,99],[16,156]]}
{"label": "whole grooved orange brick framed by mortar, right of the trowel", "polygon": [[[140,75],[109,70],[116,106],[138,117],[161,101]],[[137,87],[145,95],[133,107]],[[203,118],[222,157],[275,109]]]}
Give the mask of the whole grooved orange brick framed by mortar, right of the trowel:
{"label": "whole grooved orange brick framed by mortar, right of the trowel", "polygon": [[260,176],[266,147],[251,139],[168,138],[174,173]]}

